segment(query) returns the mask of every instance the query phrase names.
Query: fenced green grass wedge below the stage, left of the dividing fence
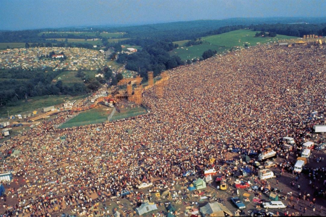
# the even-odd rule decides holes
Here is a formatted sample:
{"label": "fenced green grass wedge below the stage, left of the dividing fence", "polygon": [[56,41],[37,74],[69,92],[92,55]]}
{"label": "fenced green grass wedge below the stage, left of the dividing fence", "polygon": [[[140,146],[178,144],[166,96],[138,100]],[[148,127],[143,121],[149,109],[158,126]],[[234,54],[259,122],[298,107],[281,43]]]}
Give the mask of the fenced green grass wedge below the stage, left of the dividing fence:
{"label": "fenced green grass wedge below the stage, left of the dividing fence", "polygon": [[107,120],[107,117],[110,115],[110,111],[102,111],[100,109],[91,109],[79,113],[79,115],[68,120],[66,123],[62,124],[59,128],[67,128],[74,126],[82,126],[88,124],[101,123]]}

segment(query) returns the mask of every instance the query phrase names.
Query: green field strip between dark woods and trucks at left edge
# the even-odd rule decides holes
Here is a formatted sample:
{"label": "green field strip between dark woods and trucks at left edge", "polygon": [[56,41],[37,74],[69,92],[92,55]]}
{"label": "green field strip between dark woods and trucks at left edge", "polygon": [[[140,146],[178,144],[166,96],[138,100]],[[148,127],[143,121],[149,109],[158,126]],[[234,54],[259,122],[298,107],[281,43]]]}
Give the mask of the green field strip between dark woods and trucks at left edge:
{"label": "green field strip between dark woods and trucks at left edge", "polygon": [[17,114],[29,114],[32,113],[36,109],[40,109],[43,107],[57,105],[64,103],[64,101],[77,100],[86,97],[85,95],[72,97],[69,95],[60,95],[60,96],[43,96],[43,97],[31,97],[28,98],[27,102],[25,100],[21,100],[19,105],[16,106],[3,106],[0,107],[0,116],[8,116],[9,115],[17,115]]}

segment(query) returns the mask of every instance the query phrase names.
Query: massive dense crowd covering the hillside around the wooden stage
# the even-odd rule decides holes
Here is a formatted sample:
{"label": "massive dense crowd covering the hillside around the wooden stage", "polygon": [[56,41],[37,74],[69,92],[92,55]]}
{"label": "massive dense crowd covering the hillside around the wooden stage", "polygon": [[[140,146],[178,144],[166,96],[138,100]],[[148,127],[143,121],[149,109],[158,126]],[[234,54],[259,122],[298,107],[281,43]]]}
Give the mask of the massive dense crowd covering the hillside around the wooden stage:
{"label": "massive dense crowd covering the hillside around the wooden stage", "polygon": [[309,118],[313,111],[325,116],[325,58],[321,47],[261,45],[169,71],[163,98],[153,89],[143,94],[148,115],[52,128],[67,116],[61,113],[3,144],[4,154],[22,151],[1,166],[20,186],[9,195],[17,198],[14,209],[39,216],[64,202],[88,210],[91,194],[105,201],[141,182],[202,174],[216,166],[211,158],[228,159],[229,148],[269,146],[282,155],[282,137],[302,144],[313,125],[325,124]]}

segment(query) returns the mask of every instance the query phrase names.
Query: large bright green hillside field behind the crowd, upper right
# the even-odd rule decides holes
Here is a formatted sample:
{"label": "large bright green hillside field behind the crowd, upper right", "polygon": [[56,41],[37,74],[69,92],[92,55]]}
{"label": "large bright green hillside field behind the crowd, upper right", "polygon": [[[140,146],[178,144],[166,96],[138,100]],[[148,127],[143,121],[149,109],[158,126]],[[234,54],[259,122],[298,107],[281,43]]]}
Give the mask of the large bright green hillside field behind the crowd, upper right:
{"label": "large bright green hillside field behind the crowd, upper right", "polygon": [[[277,35],[274,38],[262,38],[254,37],[255,31],[251,30],[235,30],[220,35],[202,37],[203,43],[200,45],[194,45],[190,47],[180,47],[169,52],[169,54],[177,55],[183,60],[200,58],[204,51],[209,49],[216,50],[217,53],[222,53],[226,50],[230,50],[232,47],[244,47],[245,44],[248,46],[254,46],[257,44],[263,44],[268,42],[277,42],[279,40],[296,39],[296,37]],[[173,43],[185,44],[187,41],[176,41]]]}

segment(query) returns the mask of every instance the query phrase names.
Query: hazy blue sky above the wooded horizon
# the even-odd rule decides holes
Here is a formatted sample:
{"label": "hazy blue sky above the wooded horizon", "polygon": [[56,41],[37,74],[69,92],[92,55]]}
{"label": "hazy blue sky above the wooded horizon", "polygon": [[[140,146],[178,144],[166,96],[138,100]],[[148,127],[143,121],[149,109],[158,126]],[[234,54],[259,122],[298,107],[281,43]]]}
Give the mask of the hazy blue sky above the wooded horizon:
{"label": "hazy blue sky above the wooded horizon", "polygon": [[321,17],[325,11],[326,0],[1,0],[0,29]]}

